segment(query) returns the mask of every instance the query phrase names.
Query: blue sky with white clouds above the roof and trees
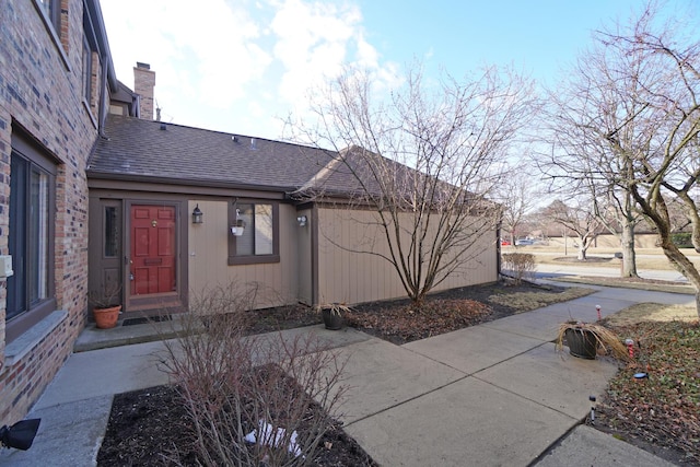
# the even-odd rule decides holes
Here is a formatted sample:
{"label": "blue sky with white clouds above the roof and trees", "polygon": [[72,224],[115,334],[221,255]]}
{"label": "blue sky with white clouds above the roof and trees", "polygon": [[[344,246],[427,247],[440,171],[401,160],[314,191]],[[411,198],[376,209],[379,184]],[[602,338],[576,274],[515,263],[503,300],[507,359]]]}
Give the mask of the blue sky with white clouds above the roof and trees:
{"label": "blue sky with white clouds above the roof and trees", "polygon": [[[192,5],[196,4],[196,8]],[[256,138],[287,136],[314,89],[346,65],[400,85],[407,66],[462,79],[512,66],[551,85],[591,34],[642,0],[101,0],[117,79],[155,72],[162,120]],[[700,1],[668,0],[700,20]]]}

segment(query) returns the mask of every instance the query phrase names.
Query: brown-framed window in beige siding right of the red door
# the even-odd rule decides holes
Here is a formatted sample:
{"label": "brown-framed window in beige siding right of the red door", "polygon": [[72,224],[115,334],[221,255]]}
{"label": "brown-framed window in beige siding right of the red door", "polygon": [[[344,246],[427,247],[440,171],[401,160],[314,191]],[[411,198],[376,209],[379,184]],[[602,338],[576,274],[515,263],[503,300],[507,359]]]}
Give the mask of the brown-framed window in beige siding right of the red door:
{"label": "brown-framed window in beige siding right of the red door", "polygon": [[229,265],[279,262],[278,203],[234,202],[229,224],[245,225],[242,235],[229,233]]}

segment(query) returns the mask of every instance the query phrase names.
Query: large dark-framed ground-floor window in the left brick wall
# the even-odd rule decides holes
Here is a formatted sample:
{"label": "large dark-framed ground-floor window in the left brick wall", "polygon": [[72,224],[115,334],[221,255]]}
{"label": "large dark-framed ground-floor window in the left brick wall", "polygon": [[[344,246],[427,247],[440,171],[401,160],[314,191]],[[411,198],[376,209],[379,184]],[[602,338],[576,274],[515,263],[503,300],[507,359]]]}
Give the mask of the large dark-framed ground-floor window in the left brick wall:
{"label": "large dark-framed ground-floor window in the left brick wall", "polygon": [[56,165],[13,131],[10,163],[8,341],[55,310],[54,217]]}

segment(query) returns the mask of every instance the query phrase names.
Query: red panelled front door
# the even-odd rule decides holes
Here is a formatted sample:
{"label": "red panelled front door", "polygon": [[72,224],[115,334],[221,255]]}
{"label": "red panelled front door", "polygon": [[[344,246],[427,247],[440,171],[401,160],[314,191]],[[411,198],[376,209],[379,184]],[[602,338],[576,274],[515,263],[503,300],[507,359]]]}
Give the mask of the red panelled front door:
{"label": "red panelled front door", "polygon": [[131,206],[131,299],[177,292],[174,206]]}

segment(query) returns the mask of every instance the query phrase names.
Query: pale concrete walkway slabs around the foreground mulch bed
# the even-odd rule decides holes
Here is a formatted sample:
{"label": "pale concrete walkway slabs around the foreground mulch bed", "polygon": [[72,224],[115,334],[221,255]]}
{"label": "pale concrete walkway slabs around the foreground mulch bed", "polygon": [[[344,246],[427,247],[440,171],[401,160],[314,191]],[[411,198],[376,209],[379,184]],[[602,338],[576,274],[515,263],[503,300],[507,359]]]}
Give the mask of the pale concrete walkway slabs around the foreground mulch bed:
{"label": "pale concrete walkway slabs around the foreground mulch bed", "polygon": [[[346,431],[383,466],[664,466],[664,460],[581,422],[616,364],[557,353],[558,325],[638,302],[690,295],[596,288],[592,295],[433,338],[394,346],[354,329],[313,326],[348,357]],[[132,332],[139,332],[137,326]],[[84,339],[83,339],[84,340]],[[114,394],[167,382],[162,342],[74,353],[27,418],[42,425],[3,466],[93,466]]]}

